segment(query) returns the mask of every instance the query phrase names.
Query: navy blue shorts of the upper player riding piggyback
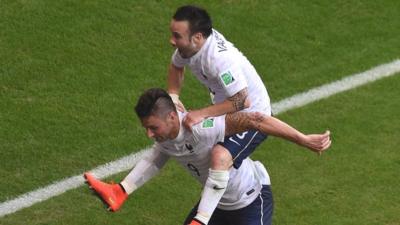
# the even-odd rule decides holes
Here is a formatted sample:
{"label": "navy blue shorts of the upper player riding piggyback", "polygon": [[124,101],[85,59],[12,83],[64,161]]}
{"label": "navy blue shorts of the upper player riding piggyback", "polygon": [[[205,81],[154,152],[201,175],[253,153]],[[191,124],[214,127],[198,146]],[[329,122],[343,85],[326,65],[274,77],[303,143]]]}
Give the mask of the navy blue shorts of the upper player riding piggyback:
{"label": "navy blue shorts of the upper player riding piggyback", "polygon": [[242,161],[254,152],[256,147],[267,137],[267,135],[257,130],[249,130],[227,136],[224,142],[219,142],[218,144],[228,149],[233,158],[233,167],[238,169],[242,165]]}

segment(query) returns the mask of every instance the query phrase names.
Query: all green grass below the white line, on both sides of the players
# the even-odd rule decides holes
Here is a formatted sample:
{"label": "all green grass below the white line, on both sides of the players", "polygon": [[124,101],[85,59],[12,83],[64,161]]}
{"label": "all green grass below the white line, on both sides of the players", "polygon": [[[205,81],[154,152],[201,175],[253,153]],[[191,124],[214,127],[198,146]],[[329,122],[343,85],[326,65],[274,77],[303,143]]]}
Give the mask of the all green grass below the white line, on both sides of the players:
{"label": "all green grass below the white line, on both sides of the players", "polygon": [[[334,145],[321,157],[277,138],[253,158],[270,171],[275,224],[397,224],[400,222],[400,76],[297,109],[280,117],[306,130],[330,128]],[[369,104],[366,104],[368,98]],[[354,102],[343,106],[343,101]],[[337,110],[340,108],[341,110]],[[310,114],[319,112],[318,125]],[[119,174],[108,181],[120,180]],[[134,193],[118,213],[108,213],[88,188],[6,216],[2,224],[176,224],[197,201],[199,186],[177,164],[169,163]],[[61,222],[59,222],[61,221]]]}

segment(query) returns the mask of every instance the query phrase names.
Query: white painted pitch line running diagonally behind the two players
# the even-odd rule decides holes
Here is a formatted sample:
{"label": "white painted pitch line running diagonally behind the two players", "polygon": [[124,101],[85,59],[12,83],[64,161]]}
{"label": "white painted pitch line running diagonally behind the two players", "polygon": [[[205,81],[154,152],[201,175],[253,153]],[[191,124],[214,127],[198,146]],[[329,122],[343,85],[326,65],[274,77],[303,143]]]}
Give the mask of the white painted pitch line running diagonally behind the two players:
{"label": "white painted pitch line running diagonally behind the two players", "polygon": [[[290,109],[298,108],[309,103],[327,98],[334,94],[356,88],[358,86],[374,82],[384,77],[395,75],[400,72],[400,60],[383,64],[372,68],[363,73],[354,74],[345,77],[339,81],[313,88],[307,92],[303,92],[282,101],[272,104],[272,109],[277,115]],[[105,178],[123,171],[131,169],[145,155],[150,153],[150,149],[144,149],[140,152],[130,154],[113,162],[106,163],[91,172],[97,178]],[[23,208],[30,207],[36,203],[45,201],[54,196],[60,195],[71,189],[78,188],[84,184],[82,174],[66,178],[61,181],[54,182],[43,188],[25,193],[15,199],[0,204],[0,217],[12,214]]]}

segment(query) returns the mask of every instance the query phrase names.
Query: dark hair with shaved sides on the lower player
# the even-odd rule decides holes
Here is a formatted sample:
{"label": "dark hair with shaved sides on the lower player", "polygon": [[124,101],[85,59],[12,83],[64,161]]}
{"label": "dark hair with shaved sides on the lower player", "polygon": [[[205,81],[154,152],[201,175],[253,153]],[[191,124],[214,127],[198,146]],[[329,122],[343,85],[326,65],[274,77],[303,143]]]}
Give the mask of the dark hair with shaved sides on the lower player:
{"label": "dark hair with shaved sides on the lower player", "polygon": [[176,112],[176,108],[166,91],[161,88],[151,88],[140,96],[135,111],[140,119],[149,116],[166,118],[170,112]]}

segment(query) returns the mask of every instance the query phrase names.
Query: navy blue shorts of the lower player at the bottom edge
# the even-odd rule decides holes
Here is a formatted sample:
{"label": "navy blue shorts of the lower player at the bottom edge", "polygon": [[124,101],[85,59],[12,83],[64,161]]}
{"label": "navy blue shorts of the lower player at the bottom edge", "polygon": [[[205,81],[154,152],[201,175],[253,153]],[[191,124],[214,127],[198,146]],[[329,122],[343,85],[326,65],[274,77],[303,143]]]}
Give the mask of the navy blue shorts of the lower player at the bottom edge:
{"label": "navy blue shorts of the lower player at the bottom edge", "polygon": [[[269,185],[263,185],[258,197],[248,206],[237,210],[215,209],[208,225],[271,225],[273,198]],[[185,220],[187,225],[197,214],[199,203]]]}

